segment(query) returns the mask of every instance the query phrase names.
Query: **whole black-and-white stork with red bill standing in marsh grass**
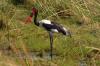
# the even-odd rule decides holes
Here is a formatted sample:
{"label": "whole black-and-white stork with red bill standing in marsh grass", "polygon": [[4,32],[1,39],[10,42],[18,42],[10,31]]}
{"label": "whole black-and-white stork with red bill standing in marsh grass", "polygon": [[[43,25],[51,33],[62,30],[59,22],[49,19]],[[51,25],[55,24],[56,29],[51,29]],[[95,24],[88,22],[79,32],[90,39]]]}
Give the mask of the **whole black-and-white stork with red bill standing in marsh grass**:
{"label": "whole black-and-white stork with red bill standing in marsh grass", "polygon": [[[38,10],[36,8],[32,8],[32,12],[30,14],[30,16],[26,19],[26,23],[32,23],[34,22],[34,24],[36,26],[40,26],[43,27],[48,33],[49,33],[49,37],[50,37],[50,56],[52,59],[52,50],[53,50],[53,33],[62,33],[65,36],[70,36],[71,37],[71,33],[68,29],[66,29],[65,27],[63,27],[62,25],[54,22],[54,21],[50,21],[50,20],[37,20],[37,15],[38,15]],[[33,19],[34,16],[34,19]],[[32,21],[32,19],[34,21]]]}

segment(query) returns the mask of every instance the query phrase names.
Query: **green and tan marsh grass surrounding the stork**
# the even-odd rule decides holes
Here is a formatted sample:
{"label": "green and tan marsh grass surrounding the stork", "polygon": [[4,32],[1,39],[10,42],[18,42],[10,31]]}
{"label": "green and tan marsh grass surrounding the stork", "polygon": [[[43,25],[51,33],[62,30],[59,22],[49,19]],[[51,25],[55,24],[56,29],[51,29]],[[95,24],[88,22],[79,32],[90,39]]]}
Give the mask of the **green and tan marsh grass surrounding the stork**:
{"label": "green and tan marsh grass surrounding the stork", "polygon": [[[93,49],[87,49],[87,46],[100,48],[99,4],[99,0],[23,0],[21,3],[4,0],[0,3],[0,17],[9,29],[0,31],[0,46],[11,46],[12,54],[21,66],[79,66],[84,58],[88,66],[91,63],[99,66],[100,59],[86,57]],[[30,55],[34,51],[49,52],[48,33],[33,24],[22,24],[32,7],[39,10],[39,19],[54,20],[71,30],[72,38],[54,34],[53,52],[58,56],[53,61],[34,60]],[[93,55],[96,54],[99,55]]]}

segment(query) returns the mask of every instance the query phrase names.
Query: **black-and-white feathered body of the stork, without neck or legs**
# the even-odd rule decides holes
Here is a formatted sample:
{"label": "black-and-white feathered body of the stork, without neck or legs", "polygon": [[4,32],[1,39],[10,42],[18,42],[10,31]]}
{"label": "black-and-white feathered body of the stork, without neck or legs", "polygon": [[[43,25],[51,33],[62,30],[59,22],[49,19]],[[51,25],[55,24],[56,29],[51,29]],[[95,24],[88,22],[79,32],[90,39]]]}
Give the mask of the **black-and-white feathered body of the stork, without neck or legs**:
{"label": "black-and-white feathered body of the stork, without neck or legs", "polygon": [[43,19],[43,20],[39,21],[39,26],[41,26],[51,32],[56,32],[56,33],[60,32],[60,33],[63,33],[64,35],[68,35],[68,30],[65,27],[63,27],[57,23],[54,23],[50,20]]}

